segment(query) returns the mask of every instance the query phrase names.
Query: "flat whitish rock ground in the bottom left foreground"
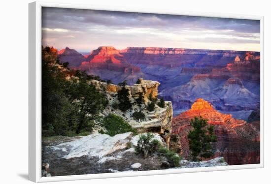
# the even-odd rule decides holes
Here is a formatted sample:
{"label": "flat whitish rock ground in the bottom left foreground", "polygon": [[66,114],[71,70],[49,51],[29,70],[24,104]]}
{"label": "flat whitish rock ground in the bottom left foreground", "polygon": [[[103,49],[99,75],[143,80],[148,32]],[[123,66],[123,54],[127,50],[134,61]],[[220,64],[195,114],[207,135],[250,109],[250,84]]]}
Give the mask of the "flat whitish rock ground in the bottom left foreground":
{"label": "flat whitish rock ground in the bottom left foreground", "polygon": [[[50,146],[42,147],[42,162],[50,164],[51,176],[161,169],[162,163],[168,161],[166,157],[154,154],[144,159],[135,153],[138,137],[131,132],[113,137],[95,133],[73,137],[72,141],[61,144],[61,138],[50,143],[46,141],[43,145]],[[154,139],[166,145],[159,134],[154,133]],[[63,137],[63,141],[67,140]],[[45,169],[42,172],[44,176],[48,174]]]}

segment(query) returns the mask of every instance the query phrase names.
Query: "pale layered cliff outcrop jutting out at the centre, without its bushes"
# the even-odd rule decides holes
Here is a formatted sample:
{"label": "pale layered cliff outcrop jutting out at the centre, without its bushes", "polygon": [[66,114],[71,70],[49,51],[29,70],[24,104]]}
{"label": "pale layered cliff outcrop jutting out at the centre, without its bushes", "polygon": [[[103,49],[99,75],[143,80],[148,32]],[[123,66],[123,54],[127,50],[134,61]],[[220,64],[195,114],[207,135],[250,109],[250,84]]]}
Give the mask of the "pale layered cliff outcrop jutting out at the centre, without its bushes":
{"label": "pale layered cliff outcrop jutting out at the centre, without its bushes", "polygon": [[[130,101],[132,103],[131,109],[133,110],[124,113],[118,109],[105,109],[104,114],[108,114],[113,110],[113,113],[115,114],[119,114],[120,116],[124,115],[123,118],[127,120],[127,122],[130,123],[132,127],[134,127],[138,132],[156,132],[161,134],[169,147],[171,122],[173,117],[172,104],[170,101],[165,101],[165,108],[161,108],[158,105],[155,105],[155,110],[153,112],[148,112],[145,107],[143,107],[143,109],[138,107],[138,105],[135,103],[135,99],[138,98],[139,93],[143,94],[143,99],[145,102],[144,106],[146,106],[147,103],[149,103],[149,94],[152,94],[152,97],[156,98],[158,95],[158,86],[160,85],[158,81],[143,79],[139,80],[140,84],[124,87],[129,90]],[[122,87],[96,80],[92,80],[90,83],[107,95],[109,104],[113,104],[118,101],[117,93],[119,90],[121,90]],[[132,115],[135,111],[141,111],[145,113],[147,118],[145,120],[140,120],[140,122],[138,122],[138,120],[134,120]]]}

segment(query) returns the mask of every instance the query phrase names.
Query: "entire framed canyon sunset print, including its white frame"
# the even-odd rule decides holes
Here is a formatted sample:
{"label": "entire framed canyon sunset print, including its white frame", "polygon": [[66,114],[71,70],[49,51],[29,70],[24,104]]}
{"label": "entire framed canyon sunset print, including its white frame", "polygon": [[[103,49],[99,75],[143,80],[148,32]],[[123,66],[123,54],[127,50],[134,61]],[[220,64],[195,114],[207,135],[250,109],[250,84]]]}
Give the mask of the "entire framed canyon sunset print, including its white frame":
{"label": "entire framed canyon sunset print, including its white frame", "polygon": [[30,3],[30,180],[263,167],[263,21]]}

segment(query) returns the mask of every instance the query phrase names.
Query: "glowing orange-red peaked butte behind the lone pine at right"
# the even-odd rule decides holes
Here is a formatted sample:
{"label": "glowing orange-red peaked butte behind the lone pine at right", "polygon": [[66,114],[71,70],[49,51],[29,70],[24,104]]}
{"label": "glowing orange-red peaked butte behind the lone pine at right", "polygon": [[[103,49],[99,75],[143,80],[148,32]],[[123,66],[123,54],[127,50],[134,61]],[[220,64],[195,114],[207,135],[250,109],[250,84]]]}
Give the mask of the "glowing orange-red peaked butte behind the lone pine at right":
{"label": "glowing orange-red peaked butte behind the lone pine at right", "polygon": [[180,136],[182,155],[189,155],[187,134],[192,128],[190,120],[202,116],[215,126],[218,142],[213,144],[216,156],[223,156],[230,165],[260,162],[260,131],[251,123],[232,118],[216,111],[212,105],[197,99],[191,109],[173,118],[172,134]]}

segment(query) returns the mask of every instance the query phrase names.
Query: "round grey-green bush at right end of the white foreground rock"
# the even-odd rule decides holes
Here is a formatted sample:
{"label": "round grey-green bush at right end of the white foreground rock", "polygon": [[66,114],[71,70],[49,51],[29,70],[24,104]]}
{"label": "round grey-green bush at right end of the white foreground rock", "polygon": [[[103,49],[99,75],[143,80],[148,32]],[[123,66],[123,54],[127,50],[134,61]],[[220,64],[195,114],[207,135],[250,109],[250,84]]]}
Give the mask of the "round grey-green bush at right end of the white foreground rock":
{"label": "round grey-green bush at right end of the white foreground rock", "polygon": [[147,133],[147,135],[140,135],[135,151],[138,154],[142,154],[144,158],[147,158],[148,155],[153,154],[159,147],[160,143],[158,140],[152,140],[154,135]]}

